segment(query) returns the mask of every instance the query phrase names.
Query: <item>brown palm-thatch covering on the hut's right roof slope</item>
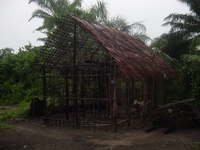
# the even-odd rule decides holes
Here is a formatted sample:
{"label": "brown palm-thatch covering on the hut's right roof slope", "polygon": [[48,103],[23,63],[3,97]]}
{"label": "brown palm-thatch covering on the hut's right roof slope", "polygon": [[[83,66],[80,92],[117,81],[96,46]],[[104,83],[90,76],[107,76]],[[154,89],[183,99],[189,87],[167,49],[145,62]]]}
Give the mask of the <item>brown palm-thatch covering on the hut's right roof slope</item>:
{"label": "brown palm-thatch covering on the hut's right roof slope", "polygon": [[[67,15],[65,18],[67,18],[65,22],[66,27],[70,28],[72,24],[69,20],[73,20],[78,26],[89,33],[96,42],[100,43],[114,59],[119,70],[128,79],[139,78],[146,80],[149,77],[163,75],[167,75],[168,77],[175,76],[171,67],[136,37],[105,25],[91,23],[73,15]],[[45,50],[43,50],[42,55],[49,54],[45,54]],[[40,58],[47,59],[48,57]],[[45,62],[45,60],[43,61]]]}

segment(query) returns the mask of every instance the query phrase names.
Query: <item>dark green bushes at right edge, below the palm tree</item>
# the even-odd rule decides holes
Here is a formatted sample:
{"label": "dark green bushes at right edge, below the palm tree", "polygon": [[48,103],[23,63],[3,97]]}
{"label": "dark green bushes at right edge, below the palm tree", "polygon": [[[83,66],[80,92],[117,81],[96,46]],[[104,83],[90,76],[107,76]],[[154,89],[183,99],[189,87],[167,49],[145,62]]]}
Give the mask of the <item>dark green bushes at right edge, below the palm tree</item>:
{"label": "dark green bushes at right edge, below the palm tree", "polygon": [[[175,68],[177,79],[165,79],[165,100],[200,99],[200,56],[184,54],[179,60],[170,59]],[[200,104],[200,103],[199,103]]]}

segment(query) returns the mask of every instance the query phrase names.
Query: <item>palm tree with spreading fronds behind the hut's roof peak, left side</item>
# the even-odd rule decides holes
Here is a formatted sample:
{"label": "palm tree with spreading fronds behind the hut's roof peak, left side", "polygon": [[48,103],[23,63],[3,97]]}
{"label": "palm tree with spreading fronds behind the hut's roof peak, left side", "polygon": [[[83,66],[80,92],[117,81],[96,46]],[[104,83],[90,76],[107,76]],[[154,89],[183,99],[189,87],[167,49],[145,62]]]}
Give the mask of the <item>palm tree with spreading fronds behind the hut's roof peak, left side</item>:
{"label": "palm tree with spreading fronds behind the hut's roof peak, left side", "polygon": [[31,18],[43,19],[42,26],[36,30],[41,31],[47,35],[60,23],[61,17],[64,13],[70,12],[80,15],[82,0],[29,0],[30,3],[36,3],[40,8],[32,13]]}

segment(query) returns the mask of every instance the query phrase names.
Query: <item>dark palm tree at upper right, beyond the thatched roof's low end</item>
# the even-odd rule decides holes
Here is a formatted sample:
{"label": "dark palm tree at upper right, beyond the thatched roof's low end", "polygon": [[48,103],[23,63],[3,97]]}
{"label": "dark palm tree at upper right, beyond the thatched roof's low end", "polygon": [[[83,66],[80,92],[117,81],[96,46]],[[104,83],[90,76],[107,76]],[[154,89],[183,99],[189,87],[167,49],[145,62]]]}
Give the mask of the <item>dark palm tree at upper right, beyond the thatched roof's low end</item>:
{"label": "dark palm tree at upper right, beyond the thatched roof's low end", "polygon": [[179,58],[182,54],[189,53],[199,46],[200,34],[200,1],[179,0],[190,7],[190,14],[170,14],[163,26],[170,25],[168,34],[163,34],[154,39],[151,46],[160,49],[173,58]]}

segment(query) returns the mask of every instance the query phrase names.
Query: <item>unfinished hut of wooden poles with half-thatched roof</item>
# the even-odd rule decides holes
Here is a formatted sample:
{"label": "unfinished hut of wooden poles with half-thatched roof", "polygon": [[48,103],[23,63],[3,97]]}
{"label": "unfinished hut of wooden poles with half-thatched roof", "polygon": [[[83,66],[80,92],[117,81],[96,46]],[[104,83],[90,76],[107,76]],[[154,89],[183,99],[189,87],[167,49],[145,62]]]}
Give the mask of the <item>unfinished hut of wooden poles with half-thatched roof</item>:
{"label": "unfinished hut of wooden poles with half-thatched roof", "polygon": [[117,131],[162,104],[174,71],[141,40],[74,15],[63,16],[35,65],[47,124]]}

